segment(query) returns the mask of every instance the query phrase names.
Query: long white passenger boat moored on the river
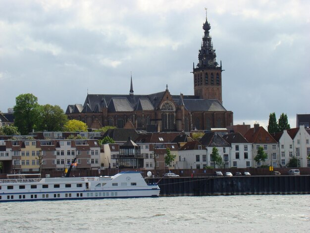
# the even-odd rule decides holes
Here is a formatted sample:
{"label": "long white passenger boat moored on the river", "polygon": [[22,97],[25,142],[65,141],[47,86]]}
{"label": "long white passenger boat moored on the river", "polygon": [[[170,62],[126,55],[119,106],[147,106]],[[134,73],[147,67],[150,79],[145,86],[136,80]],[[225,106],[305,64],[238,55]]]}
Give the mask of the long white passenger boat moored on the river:
{"label": "long white passenger boat moored on the river", "polygon": [[148,184],[141,173],[131,171],[100,177],[29,177],[0,179],[0,202],[158,197],[160,191],[157,184]]}

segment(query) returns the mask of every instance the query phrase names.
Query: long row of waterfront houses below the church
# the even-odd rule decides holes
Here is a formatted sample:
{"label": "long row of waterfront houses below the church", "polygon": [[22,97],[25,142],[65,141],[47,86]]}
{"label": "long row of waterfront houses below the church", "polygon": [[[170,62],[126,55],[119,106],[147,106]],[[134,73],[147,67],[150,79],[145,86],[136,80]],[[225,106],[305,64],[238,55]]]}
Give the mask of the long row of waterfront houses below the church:
{"label": "long row of waterfront houses below the church", "polygon": [[[62,171],[74,158],[78,170],[203,169],[215,166],[211,160],[213,147],[218,149],[225,168],[260,167],[262,164],[254,160],[259,147],[268,155],[264,165],[286,167],[290,159],[296,157],[298,167],[310,167],[310,131],[303,125],[271,135],[255,124],[244,135],[228,133],[227,130],[211,131],[199,140],[182,132],[139,134],[132,129],[111,129],[103,136],[110,136],[116,142],[104,145],[100,145],[97,139],[60,138],[63,135],[65,133],[44,132],[33,135],[31,139],[19,136],[14,140],[0,140],[2,173],[35,172],[40,166],[47,171]],[[176,155],[169,166],[164,160],[167,148]]]}

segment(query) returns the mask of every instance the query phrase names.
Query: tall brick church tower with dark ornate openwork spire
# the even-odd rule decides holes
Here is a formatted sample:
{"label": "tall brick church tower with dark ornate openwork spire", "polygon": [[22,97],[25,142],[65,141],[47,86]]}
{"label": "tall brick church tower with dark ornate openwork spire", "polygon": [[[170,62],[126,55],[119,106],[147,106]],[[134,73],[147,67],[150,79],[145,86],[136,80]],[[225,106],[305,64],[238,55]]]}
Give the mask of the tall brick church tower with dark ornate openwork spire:
{"label": "tall brick church tower with dark ornate openwork spire", "polygon": [[203,25],[205,31],[201,49],[199,50],[199,63],[193,64],[194,94],[201,99],[216,99],[222,104],[222,62],[216,62],[212,38],[209,34],[211,26],[207,21]]}

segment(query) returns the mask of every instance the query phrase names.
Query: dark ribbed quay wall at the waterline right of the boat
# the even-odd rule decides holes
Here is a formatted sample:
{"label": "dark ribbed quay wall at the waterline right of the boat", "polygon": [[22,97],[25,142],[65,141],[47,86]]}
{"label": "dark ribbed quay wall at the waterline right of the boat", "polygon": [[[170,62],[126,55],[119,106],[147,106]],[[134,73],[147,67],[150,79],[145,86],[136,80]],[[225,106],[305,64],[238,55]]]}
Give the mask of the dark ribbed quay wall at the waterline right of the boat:
{"label": "dark ribbed quay wall at the waterline right of the boat", "polygon": [[148,178],[160,196],[310,194],[310,175]]}

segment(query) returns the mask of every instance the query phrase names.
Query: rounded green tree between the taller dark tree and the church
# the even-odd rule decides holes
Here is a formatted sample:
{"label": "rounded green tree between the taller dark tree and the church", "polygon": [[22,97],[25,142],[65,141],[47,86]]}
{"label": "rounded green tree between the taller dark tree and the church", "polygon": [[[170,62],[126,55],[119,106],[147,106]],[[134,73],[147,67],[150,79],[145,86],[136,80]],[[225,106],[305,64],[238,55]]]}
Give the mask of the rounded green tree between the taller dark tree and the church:
{"label": "rounded green tree between the taller dark tree and the church", "polygon": [[40,106],[39,130],[62,131],[67,121],[68,117],[58,105],[47,104]]}

